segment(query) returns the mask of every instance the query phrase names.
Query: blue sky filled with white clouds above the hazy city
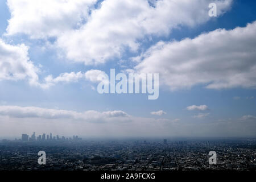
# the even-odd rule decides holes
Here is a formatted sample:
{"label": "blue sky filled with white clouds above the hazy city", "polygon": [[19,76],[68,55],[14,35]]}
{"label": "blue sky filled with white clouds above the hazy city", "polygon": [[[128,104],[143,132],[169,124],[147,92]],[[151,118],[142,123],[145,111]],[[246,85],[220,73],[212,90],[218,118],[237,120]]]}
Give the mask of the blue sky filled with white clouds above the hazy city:
{"label": "blue sky filled with white clouds above the hazy city", "polygon": [[[209,16],[216,3],[217,16]],[[0,2],[0,137],[256,137],[256,2]],[[159,97],[100,73],[159,73]]]}

